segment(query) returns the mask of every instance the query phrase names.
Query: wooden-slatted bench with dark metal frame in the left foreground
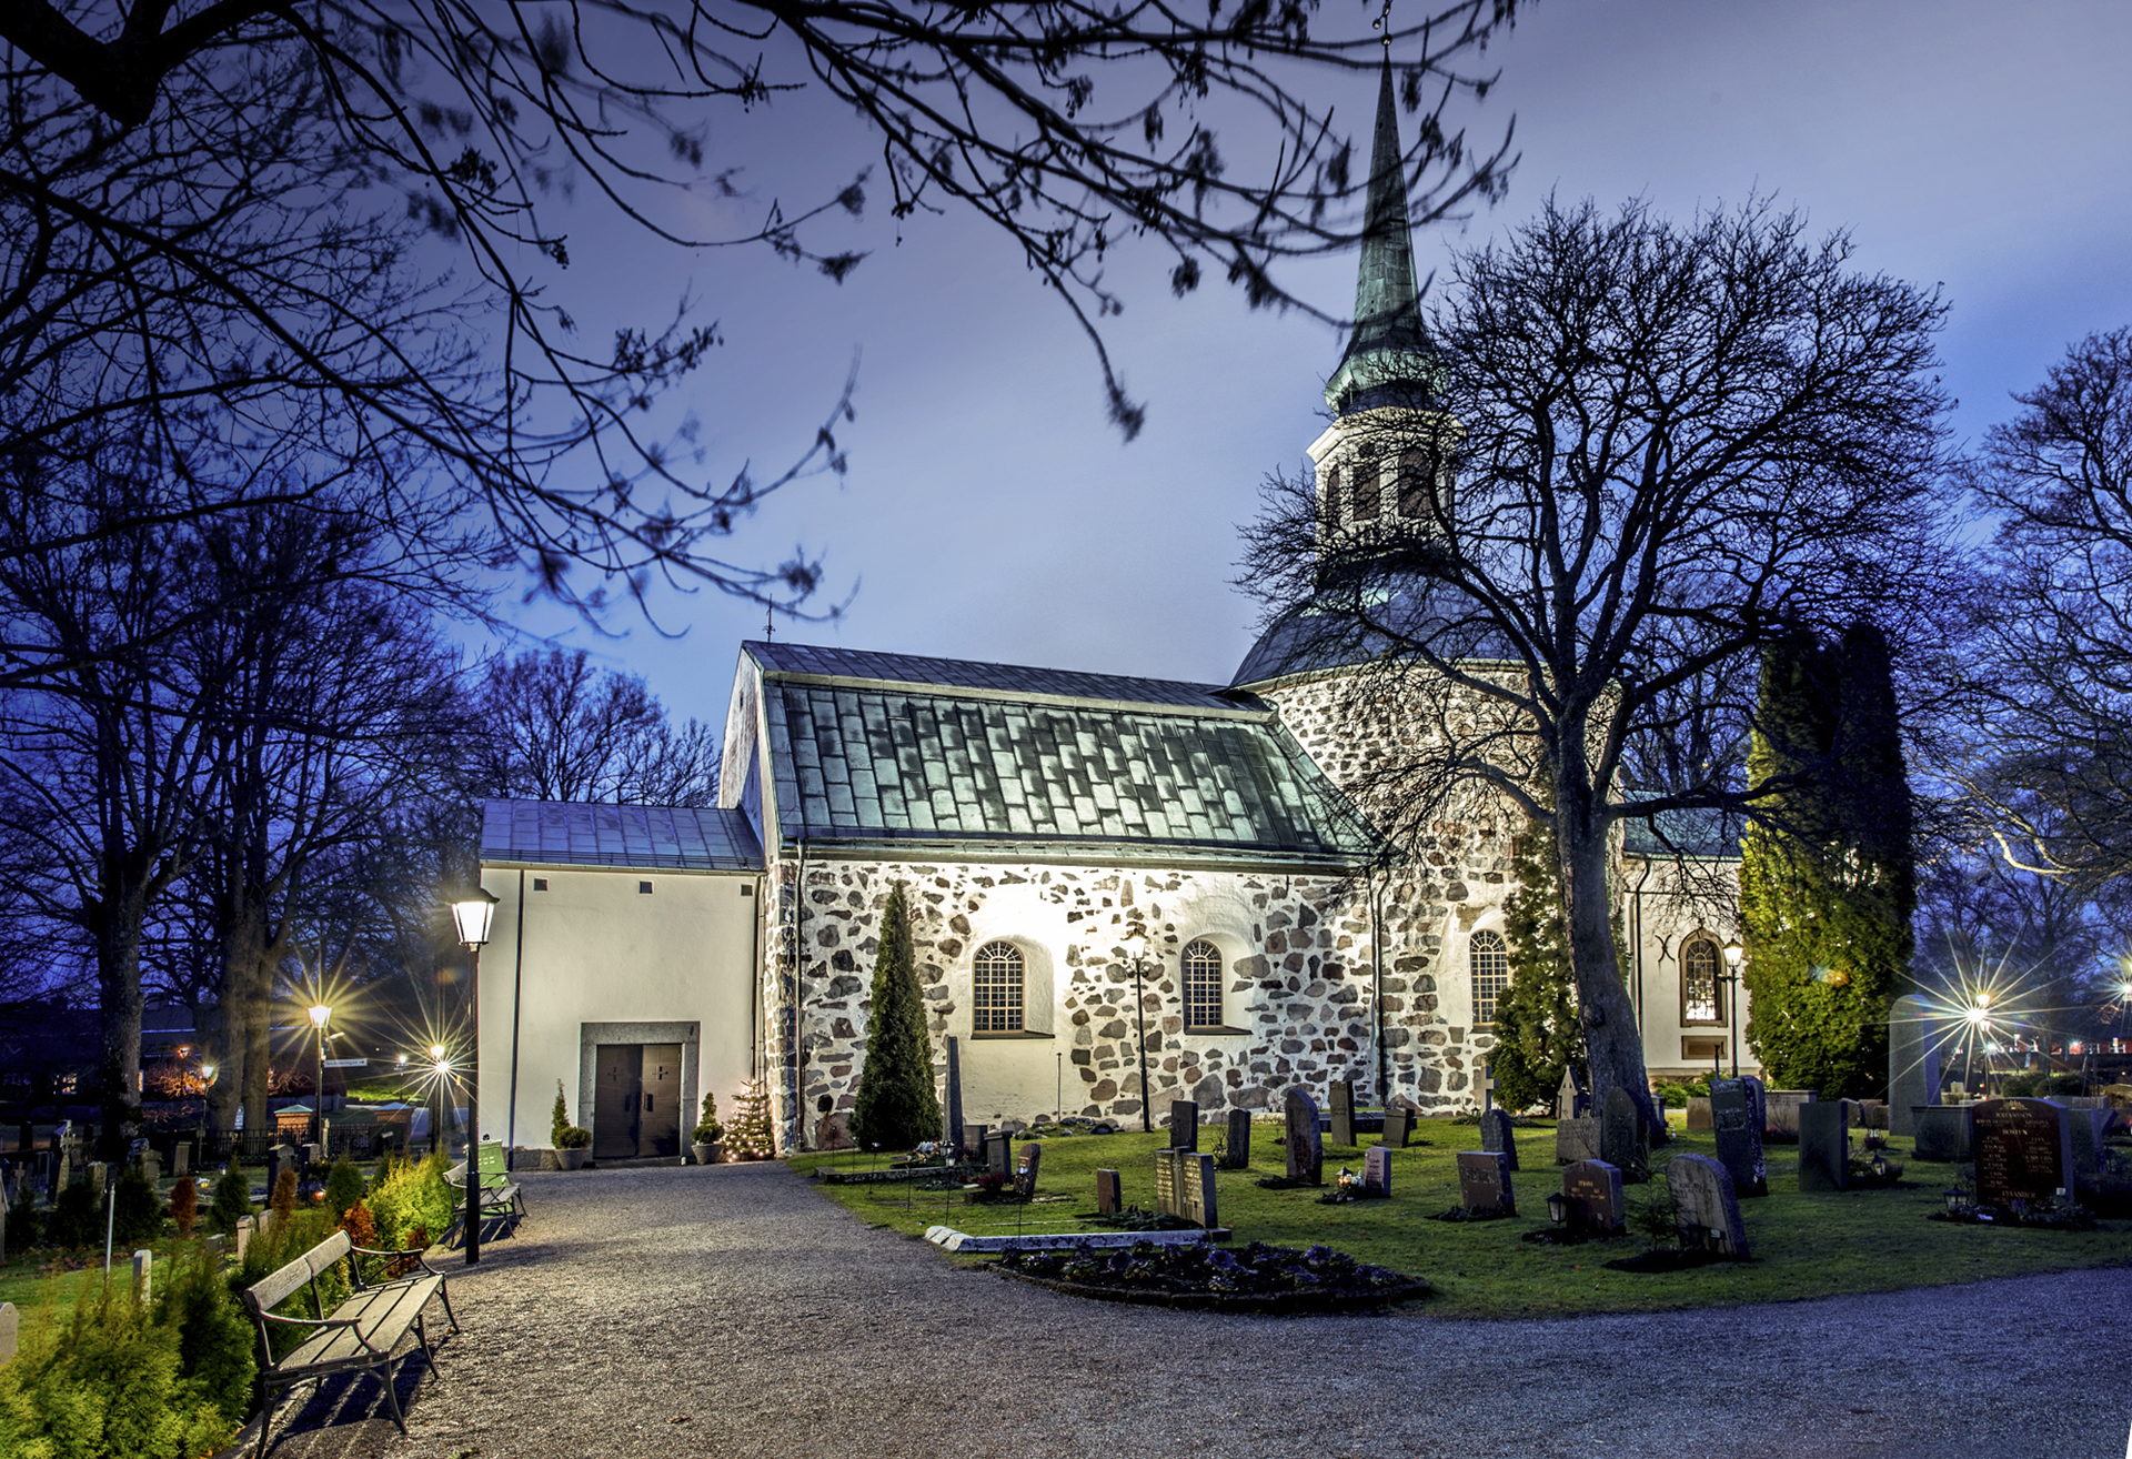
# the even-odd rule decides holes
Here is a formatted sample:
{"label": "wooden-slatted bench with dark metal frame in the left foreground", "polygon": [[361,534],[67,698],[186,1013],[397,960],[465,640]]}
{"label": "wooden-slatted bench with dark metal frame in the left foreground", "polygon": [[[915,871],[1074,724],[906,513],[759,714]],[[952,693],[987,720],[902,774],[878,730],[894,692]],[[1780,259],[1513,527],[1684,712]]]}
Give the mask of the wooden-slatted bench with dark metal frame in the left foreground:
{"label": "wooden-slatted bench with dark metal frame in the left foreground", "polygon": [[[377,1380],[386,1391],[386,1406],[392,1410],[392,1423],[399,1425],[401,1433],[407,1431],[407,1418],[401,1414],[399,1406],[399,1391],[392,1386],[392,1369],[399,1365],[392,1350],[411,1329],[416,1344],[422,1348],[422,1357],[429,1359],[435,1369],[437,1354],[429,1346],[429,1325],[422,1320],[422,1310],[429,1305],[431,1297],[441,1297],[443,1316],[450,1318],[454,1333],[458,1331],[458,1316],[452,1312],[452,1293],[443,1284],[443,1273],[426,1261],[418,1258],[420,1271],[409,1276],[390,1282],[365,1284],[360,1263],[362,1256],[392,1258],[405,1256],[405,1252],[384,1252],[356,1246],[348,1239],[345,1231],[335,1231],[296,1261],[245,1288],[245,1310],[252,1312],[260,1329],[260,1455],[266,1453],[266,1429],[273,1427],[273,1410],[279,1391],[309,1378],[326,1378],[343,1372],[377,1374]],[[333,1263],[343,1258],[348,1261],[350,1286],[356,1290],[348,1301],[333,1310],[333,1316],[326,1316],[326,1303],[320,1295],[318,1278],[322,1271],[333,1267]],[[292,1318],[275,1312],[277,1305],[294,1297],[305,1286],[311,1288],[313,1316]],[[273,1354],[275,1327],[313,1331],[277,1359]]]}

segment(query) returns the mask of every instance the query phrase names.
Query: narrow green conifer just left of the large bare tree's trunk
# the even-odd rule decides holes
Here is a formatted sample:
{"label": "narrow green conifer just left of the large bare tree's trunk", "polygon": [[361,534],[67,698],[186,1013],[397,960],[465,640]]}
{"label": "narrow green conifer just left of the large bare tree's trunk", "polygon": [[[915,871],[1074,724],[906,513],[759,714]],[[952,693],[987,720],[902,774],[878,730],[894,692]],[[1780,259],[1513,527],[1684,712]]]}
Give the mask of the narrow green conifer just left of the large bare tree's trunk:
{"label": "narrow green conifer just left of the large bare tree's trunk", "polygon": [[1524,1109],[1552,1099],[1563,1071],[1584,1058],[1563,919],[1561,847],[1548,821],[1533,821],[1518,838],[1514,877],[1518,889],[1503,904],[1509,988],[1495,1005],[1488,1073],[1495,1075],[1495,1101]]}

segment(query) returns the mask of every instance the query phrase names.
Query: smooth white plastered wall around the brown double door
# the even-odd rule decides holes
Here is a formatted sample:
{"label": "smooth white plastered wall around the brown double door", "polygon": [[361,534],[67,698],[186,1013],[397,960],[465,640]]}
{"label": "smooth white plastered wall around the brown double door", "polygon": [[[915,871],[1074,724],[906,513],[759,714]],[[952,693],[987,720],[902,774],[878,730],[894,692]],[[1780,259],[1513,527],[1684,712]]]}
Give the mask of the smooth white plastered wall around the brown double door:
{"label": "smooth white plastered wall around the brown double door", "polygon": [[[537,892],[535,881],[546,881],[548,889]],[[637,889],[644,881],[652,883],[650,894]],[[571,1122],[591,1128],[586,1024],[693,1028],[695,1045],[682,1049],[682,1143],[695,1128],[706,1088],[718,1094],[721,1113],[731,1111],[753,1071],[761,894],[755,872],[580,866],[524,868],[520,877],[516,866],[486,866],[482,885],[501,898],[482,949],[484,1137],[546,1148],[556,1079],[569,1096]],[[510,1099],[514,1011],[516,1109]]]}

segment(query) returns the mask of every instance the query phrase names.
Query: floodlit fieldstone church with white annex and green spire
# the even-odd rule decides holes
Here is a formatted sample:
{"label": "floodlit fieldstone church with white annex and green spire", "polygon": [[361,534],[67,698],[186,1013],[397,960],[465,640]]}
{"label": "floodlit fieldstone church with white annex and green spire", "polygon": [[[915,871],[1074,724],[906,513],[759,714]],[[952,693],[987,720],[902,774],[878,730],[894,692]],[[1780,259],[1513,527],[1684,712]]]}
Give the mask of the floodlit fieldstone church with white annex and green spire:
{"label": "floodlit fieldstone church with white annex and green spire", "polygon": [[[1390,73],[1356,331],[1313,442],[1322,520],[1403,512],[1379,386],[1426,369]],[[1382,196],[1379,196],[1382,194]],[[1326,1099],[1480,1105],[1522,817],[1475,808],[1392,857],[1350,789],[1407,725],[1281,623],[1228,683],[750,642],[716,808],[488,802],[501,898],[480,975],[490,1137],[548,1143],[556,1084],[595,1158],[678,1154],[701,1094],[768,1079],[780,1148],[838,1139],[863,1073],[878,919],[902,881],[934,1054],[972,1122],[1138,1126]],[[1622,973],[1652,1075],[1738,1047],[1731,915],[1676,896],[1684,849],[1616,857]],[[1712,917],[1706,926],[1703,917]],[[1714,926],[1723,921],[1723,926]]]}

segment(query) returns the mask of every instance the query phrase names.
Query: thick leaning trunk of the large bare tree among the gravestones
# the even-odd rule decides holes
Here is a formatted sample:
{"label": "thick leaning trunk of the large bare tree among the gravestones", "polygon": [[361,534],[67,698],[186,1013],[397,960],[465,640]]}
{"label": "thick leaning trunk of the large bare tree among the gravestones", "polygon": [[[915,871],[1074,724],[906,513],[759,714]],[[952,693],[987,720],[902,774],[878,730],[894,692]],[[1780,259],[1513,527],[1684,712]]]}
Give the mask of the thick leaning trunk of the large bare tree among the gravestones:
{"label": "thick leaning trunk of the large bare tree among the gravestones", "polygon": [[[1571,793],[1565,793],[1571,791]],[[1584,1052],[1590,1062],[1593,1099],[1620,1088],[1635,1101],[1637,1120],[1650,1141],[1665,1141],[1665,1122],[1650,1096],[1650,1075],[1644,1069],[1644,1035],[1635,1026],[1635,1007],[1620,979],[1620,958],[1614,949],[1614,919],[1608,896],[1605,821],[1593,815],[1590,798],[1580,787],[1556,783],[1554,823],[1563,851],[1563,915],[1569,924],[1569,966],[1578,979],[1578,1015],[1584,1022]]]}

